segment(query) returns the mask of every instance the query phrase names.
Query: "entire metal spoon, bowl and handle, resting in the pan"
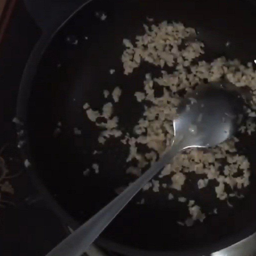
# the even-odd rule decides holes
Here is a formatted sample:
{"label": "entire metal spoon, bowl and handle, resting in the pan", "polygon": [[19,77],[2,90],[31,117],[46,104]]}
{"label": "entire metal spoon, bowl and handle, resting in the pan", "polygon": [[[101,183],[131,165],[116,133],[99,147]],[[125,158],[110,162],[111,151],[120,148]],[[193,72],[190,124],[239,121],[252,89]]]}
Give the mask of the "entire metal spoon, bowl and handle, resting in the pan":
{"label": "entire metal spoon, bowl and handle, resting in the pan", "polygon": [[[132,197],[182,149],[212,147],[227,140],[241,122],[243,100],[223,82],[198,86],[184,99],[173,121],[174,139],[159,161],[119,196],[64,239],[47,256],[80,256]],[[232,86],[231,86],[232,88]]]}

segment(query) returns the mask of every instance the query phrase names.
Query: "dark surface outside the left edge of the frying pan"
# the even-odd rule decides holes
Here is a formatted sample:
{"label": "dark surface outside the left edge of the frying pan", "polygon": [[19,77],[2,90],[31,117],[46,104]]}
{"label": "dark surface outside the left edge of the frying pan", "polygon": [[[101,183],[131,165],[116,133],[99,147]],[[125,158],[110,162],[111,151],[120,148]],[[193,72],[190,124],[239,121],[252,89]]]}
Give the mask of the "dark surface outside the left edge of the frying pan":
{"label": "dark surface outside the left edge of the frying pan", "polygon": [[40,34],[23,1],[16,1],[0,43],[0,148],[6,147],[1,156],[11,172],[21,171],[10,180],[14,195],[1,198],[14,204],[0,208],[0,255],[4,256],[44,255],[66,235],[57,217],[36,196],[24,172],[12,123],[20,78]]}

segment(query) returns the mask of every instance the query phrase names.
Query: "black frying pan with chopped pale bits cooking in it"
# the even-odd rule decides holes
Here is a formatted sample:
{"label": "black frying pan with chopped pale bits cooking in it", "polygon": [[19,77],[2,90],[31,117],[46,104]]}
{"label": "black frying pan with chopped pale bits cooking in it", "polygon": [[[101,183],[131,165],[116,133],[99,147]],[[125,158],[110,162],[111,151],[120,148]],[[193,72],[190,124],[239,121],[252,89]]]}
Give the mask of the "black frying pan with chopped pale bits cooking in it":
{"label": "black frying pan with chopped pale bits cooking in it", "polygon": [[[76,228],[115,197],[115,188],[132,181],[125,174],[128,148],[110,140],[101,148],[103,157],[92,156],[92,151],[99,149],[99,130],[86,118],[83,104],[89,102],[92,108],[100,109],[106,102],[102,91],[119,85],[124,97],[115,107],[116,115],[121,127],[131,131],[142,113],[132,95],[142,89],[146,72],[159,72],[143,64],[124,76],[123,38],[143,34],[146,16],[156,23],[175,20],[197,29],[205,43],[204,60],[224,55],[252,61],[256,56],[256,8],[238,0],[93,0],[55,33],[69,13],[65,10],[62,15],[64,11],[58,13],[56,8],[51,16],[56,19],[47,20],[25,69],[17,117],[25,122],[21,126],[28,143],[23,154],[32,163],[28,169],[32,180],[50,207]],[[74,9],[72,5],[70,11]],[[105,12],[107,20],[99,20],[95,12]],[[228,48],[227,41],[231,42]],[[116,69],[114,76],[109,75],[110,68]],[[52,135],[59,121],[62,132],[56,138]],[[82,136],[74,135],[74,127],[82,130]],[[240,150],[251,161],[252,185],[233,210],[223,208],[203,224],[186,228],[176,223],[181,214],[177,205],[166,204],[159,196],[152,196],[147,205],[137,205],[138,195],[96,243],[127,255],[202,255],[251,235],[256,230],[255,149],[255,140],[244,138]],[[94,161],[100,163],[100,173],[83,177],[83,170]],[[211,205],[207,197],[202,203]]]}

